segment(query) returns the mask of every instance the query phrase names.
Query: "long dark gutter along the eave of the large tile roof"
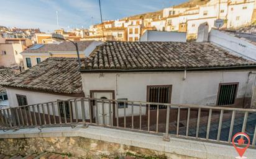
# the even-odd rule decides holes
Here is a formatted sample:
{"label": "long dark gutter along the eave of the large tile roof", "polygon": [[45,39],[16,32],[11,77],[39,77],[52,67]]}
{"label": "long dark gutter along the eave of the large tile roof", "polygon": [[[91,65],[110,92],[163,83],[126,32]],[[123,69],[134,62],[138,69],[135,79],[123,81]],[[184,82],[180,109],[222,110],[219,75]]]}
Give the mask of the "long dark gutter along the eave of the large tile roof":
{"label": "long dark gutter along the eave of the large tile roof", "polygon": [[248,66],[229,66],[229,67],[198,67],[183,69],[79,69],[83,73],[102,73],[102,72],[179,72],[179,71],[226,71],[237,69],[256,69],[256,65]]}

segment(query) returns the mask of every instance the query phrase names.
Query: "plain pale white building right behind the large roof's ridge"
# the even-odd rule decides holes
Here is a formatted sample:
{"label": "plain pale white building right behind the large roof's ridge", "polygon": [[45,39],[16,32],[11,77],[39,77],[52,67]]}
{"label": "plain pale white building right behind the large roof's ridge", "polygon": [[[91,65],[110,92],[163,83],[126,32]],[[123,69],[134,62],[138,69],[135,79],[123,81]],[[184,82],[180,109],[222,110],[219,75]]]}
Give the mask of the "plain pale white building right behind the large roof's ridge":
{"label": "plain pale white building right behind the large roof's ridge", "polygon": [[160,32],[147,30],[141,37],[140,41],[180,41],[186,42],[185,32]]}

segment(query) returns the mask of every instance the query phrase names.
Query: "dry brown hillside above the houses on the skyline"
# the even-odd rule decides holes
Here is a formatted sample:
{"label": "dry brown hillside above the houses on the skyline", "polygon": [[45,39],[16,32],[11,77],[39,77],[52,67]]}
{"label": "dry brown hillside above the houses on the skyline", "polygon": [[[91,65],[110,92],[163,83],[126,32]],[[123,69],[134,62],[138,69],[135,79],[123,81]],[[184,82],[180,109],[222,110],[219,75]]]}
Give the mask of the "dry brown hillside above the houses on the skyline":
{"label": "dry brown hillside above the houses on the skyline", "polygon": [[[180,8],[180,7],[195,7],[196,5],[204,5],[207,2],[209,2],[209,0],[190,0],[188,2],[183,2],[181,4],[178,4],[176,6],[173,6],[175,8]],[[160,11],[155,11],[155,12],[147,12],[144,14],[137,14],[137,15],[132,15],[130,17],[125,17],[124,19],[139,19],[139,18],[158,18],[159,15],[163,15],[163,10]]]}

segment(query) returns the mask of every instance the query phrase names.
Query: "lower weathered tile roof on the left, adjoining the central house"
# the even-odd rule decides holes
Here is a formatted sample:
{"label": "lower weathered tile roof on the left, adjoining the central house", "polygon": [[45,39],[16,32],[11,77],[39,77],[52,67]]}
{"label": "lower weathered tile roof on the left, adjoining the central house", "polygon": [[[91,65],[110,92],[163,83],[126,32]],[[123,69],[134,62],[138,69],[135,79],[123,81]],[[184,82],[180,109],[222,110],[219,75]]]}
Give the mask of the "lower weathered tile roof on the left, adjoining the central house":
{"label": "lower weathered tile roof on the left, adjoining the central house", "polygon": [[48,58],[1,85],[53,93],[83,92],[76,58]]}

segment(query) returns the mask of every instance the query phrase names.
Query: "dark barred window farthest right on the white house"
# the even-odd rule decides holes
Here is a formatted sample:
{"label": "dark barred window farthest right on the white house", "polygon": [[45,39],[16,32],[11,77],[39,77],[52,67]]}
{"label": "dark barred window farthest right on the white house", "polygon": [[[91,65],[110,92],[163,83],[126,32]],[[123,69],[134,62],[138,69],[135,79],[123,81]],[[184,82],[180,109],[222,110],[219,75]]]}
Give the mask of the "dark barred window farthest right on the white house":
{"label": "dark barred window farthest right on the white house", "polygon": [[238,83],[219,84],[217,105],[233,105],[237,95]]}

